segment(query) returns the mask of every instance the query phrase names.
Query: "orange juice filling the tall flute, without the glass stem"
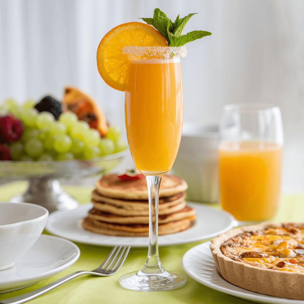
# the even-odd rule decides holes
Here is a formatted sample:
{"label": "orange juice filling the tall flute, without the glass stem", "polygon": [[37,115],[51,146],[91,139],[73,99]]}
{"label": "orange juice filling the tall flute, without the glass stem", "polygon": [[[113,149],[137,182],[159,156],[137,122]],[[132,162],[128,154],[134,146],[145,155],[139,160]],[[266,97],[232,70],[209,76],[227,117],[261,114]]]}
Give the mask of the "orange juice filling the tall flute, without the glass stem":
{"label": "orange juice filling the tall flute, without the glass stem", "polygon": [[136,168],[147,174],[168,172],[178,152],[183,123],[179,58],[131,61],[125,122]]}

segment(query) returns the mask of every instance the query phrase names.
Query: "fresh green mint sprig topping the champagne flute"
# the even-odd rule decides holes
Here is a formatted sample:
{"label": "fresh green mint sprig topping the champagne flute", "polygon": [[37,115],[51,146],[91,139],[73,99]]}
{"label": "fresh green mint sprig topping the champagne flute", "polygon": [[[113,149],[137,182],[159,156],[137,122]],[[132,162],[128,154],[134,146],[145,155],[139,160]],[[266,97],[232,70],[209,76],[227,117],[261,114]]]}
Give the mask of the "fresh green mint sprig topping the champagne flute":
{"label": "fresh green mint sprig topping the champagne flute", "polygon": [[181,19],[179,19],[178,15],[175,21],[172,22],[171,19],[169,19],[160,9],[154,9],[153,18],[141,19],[143,19],[147,24],[154,26],[155,29],[157,29],[167,40],[169,47],[180,47],[190,41],[211,35],[211,33],[207,31],[192,31],[185,35],[181,35],[186,23],[195,14],[197,13],[189,14]]}

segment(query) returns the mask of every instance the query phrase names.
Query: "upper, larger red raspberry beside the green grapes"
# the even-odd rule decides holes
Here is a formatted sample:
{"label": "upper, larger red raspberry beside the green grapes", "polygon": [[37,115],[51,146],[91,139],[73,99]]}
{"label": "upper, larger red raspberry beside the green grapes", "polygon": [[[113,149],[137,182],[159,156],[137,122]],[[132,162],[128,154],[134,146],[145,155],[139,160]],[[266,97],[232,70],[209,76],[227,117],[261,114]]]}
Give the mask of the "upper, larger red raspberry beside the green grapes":
{"label": "upper, larger red raspberry beside the green grapes", "polygon": [[0,117],[0,143],[12,143],[23,134],[22,122],[14,116]]}

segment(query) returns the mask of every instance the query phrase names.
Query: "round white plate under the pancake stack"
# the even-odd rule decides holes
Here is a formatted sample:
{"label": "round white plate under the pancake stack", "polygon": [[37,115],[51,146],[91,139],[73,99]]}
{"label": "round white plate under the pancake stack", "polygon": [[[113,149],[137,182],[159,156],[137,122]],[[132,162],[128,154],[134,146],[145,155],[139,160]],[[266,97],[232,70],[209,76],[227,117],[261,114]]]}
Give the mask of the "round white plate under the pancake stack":
{"label": "round white plate under the pancake stack", "polygon": [[[158,246],[184,244],[204,240],[226,232],[236,225],[232,215],[203,204],[188,203],[196,209],[196,224],[192,228],[174,234],[158,237]],[[148,237],[113,237],[84,230],[80,226],[82,218],[87,216],[93,204],[81,205],[76,209],[56,211],[50,214],[45,229],[66,239],[103,246],[148,247]]]}

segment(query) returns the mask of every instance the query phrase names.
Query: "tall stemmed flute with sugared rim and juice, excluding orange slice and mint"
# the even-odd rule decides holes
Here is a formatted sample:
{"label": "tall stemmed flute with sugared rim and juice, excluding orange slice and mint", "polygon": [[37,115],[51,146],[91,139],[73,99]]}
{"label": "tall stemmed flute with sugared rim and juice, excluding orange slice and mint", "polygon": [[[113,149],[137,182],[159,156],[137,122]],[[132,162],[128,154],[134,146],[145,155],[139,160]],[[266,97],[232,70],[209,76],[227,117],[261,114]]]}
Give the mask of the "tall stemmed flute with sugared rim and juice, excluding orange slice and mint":
{"label": "tall stemmed flute with sugared rim and juice, excluding orange slice and mint", "polygon": [[185,47],[124,47],[130,65],[125,122],[134,164],[145,174],[149,192],[149,249],[138,272],[119,279],[124,288],[156,291],[181,287],[186,278],[164,270],[158,255],[158,196],[162,176],[175,160],[183,124],[180,56]]}

